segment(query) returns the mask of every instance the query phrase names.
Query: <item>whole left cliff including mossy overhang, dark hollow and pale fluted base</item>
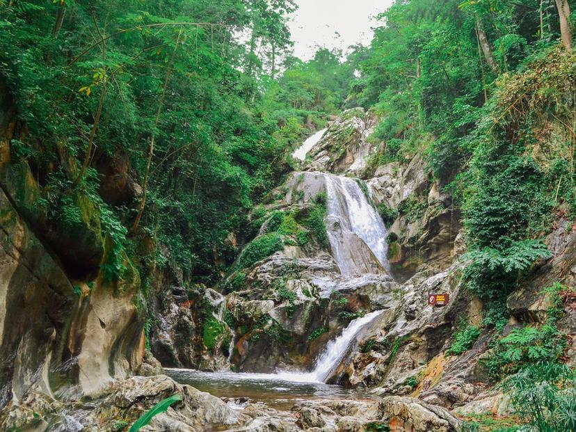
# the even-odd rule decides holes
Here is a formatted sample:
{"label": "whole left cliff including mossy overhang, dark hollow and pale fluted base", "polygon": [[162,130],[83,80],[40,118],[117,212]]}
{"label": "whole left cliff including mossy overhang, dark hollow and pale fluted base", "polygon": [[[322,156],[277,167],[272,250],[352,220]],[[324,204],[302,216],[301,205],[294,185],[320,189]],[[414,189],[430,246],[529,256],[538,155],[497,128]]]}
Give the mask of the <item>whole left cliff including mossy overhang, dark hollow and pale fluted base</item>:
{"label": "whole left cliff including mossy overhang, dark hollow and pale fluted base", "polygon": [[[17,125],[14,109],[3,102],[0,410],[29,401],[59,409],[56,400],[97,396],[114,378],[142,365],[140,278],[122,252],[115,262],[122,269],[118,274],[101,265],[112,239],[104,234],[99,207],[81,188],[46,198],[30,166],[10,160],[11,139],[25,126]],[[65,147],[58,151],[62,166],[76,172]],[[50,214],[40,200],[54,196],[61,200],[61,214]]]}

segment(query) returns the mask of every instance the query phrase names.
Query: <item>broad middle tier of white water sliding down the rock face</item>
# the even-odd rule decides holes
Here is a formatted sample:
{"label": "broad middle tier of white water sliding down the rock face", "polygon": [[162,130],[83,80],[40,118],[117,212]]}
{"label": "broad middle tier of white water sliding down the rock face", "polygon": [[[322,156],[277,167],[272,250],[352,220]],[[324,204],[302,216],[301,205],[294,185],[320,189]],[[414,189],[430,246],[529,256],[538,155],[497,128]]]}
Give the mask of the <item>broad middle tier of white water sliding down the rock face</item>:
{"label": "broad middle tier of white water sliding down the rock face", "polygon": [[[374,253],[381,266],[387,269],[388,231],[358,182],[349,177],[330,174],[324,176],[328,195],[328,237],[342,274],[366,273],[355,269],[356,251],[350,250],[347,234],[358,236]],[[334,229],[335,226],[337,230]]]}

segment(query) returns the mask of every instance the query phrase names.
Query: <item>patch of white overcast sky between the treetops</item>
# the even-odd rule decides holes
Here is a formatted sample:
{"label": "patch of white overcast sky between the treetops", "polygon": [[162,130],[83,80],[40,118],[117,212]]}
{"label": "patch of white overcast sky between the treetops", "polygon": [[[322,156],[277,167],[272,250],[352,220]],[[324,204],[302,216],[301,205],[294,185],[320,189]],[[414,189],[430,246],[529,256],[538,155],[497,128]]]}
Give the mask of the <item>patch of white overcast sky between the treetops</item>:
{"label": "patch of white overcast sky between the treetops", "polygon": [[[372,38],[374,16],[386,10],[393,0],[296,0],[298,10],[290,22],[294,55],[310,60],[318,47],[346,50]],[[339,33],[339,35],[335,34]]]}

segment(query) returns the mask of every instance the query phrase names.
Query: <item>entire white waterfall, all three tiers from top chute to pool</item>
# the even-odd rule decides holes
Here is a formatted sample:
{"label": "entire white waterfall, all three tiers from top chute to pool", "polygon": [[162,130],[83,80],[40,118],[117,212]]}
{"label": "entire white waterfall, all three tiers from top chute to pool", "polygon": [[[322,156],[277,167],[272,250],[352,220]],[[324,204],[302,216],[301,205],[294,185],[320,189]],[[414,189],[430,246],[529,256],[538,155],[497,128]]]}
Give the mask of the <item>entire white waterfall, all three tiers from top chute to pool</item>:
{"label": "entire white waterfall, all three tiers from top chute to pool", "polygon": [[[323,137],[326,129],[310,136],[292,156],[304,160],[307,152]],[[342,275],[380,273],[388,269],[387,229],[360,184],[350,177],[317,173],[324,179],[327,202],[327,232],[333,256]],[[378,310],[354,319],[335,339],[328,342],[310,372],[278,371],[275,374],[218,372],[230,381],[288,381],[325,383],[354,343],[383,311]],[[232,346],[231,346],[232,347]],[[230,350],[232,351],[232,350]],[[182,369],[173,369],[175,371]]]}

